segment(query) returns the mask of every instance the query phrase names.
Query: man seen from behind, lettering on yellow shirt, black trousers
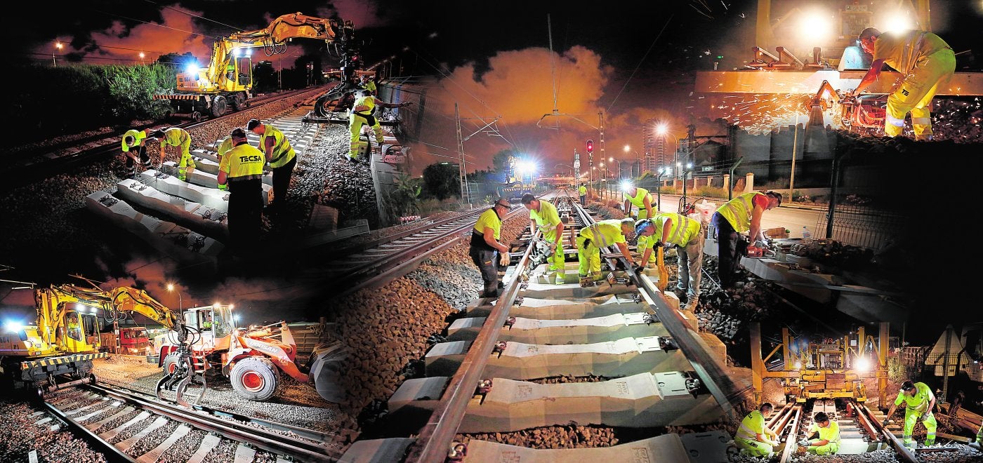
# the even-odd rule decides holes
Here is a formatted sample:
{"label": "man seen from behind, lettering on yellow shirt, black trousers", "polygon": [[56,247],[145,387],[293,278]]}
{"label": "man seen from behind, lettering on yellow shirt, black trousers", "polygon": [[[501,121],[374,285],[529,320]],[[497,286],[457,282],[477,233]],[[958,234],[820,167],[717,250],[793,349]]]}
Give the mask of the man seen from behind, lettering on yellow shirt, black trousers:
{"label": "man seen from behind, lettering on yellow shirt, black trousers", "polygon": [[229,244],[234,251],[256,249],[262,224],[262,151],[249,145],[246,131],[232,131],[232,149],[218,164],[218,184],[229,187]]}

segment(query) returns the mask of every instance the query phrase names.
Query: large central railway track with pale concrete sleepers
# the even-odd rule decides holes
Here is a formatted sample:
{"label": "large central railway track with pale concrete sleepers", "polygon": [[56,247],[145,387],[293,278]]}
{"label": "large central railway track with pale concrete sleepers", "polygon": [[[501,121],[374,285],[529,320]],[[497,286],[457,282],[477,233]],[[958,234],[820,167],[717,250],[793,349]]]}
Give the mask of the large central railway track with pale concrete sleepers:
{"label": "large central railway track with pale concrete sleepers", "polygon": [[[558,203],[567,240],[594,221],[569,198]],[[536,239],[527,233],[513,249],[522,256],[506,271],[503,295],[454,320],[427,353],[426,376],[407,379],[389,398],[380,425],[387,435],[356,440],[342,461],[726,458],[730,436],[722,431],[665,433],[732,417],[731,400],[746,386],[719,363],[723,345],[696,333],[695,318],[681,314],[675,295],[659,292],[649,276],[612,270],[631,267],[613,249],[603,256],[613,283],[580,287],[569,261],[566,283],[549,283],[546,264],[531,264],[528,245]],[[551,383],[557,377],[573,380]],[[648,435],[607,448],[549,450],[480,437],[568,425]]]}

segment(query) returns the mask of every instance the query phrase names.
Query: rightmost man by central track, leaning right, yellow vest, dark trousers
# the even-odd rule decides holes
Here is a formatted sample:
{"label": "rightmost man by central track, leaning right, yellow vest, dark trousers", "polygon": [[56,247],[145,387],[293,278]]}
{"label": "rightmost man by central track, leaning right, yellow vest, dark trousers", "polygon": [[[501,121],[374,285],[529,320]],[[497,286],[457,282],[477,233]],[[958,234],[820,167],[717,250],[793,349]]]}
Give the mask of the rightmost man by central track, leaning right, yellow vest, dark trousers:
{"label": "rightmost man by central track, leaning right, yellow vest, dark trousers", "polygon": [[718,277],[724,289],[734,287],[737,265],[743,254],[738,250],[747,249],[748,241],[741,236],[741,233],[749,232],[748,237],[751,241],[760,241],[764,244],[768,238],[761,228],[761,216],[766,210],[779,205],[781,205],[781,193],[745,193],[721,204],[710,218],[711,225],[717,230],[714,238],[720,245]]}

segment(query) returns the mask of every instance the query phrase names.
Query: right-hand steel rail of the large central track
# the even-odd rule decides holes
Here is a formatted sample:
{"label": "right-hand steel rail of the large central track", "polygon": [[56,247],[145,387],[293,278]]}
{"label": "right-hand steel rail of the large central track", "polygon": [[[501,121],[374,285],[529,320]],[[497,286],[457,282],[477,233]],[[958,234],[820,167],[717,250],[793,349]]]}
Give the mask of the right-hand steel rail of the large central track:
{"label": "right-hand steel rail of the large central track", "polygon": [[[591,217],[586,210],[579,203],[573,204],[575,210],[585,220],[584,223],[592,223]],[[611,248],[608,247],[607,249],[613,252]],[[742,390],[746,388],[739,388],[730,379],[730,376],[723,371],[720,364],[714,360],[706,341],[689,329],[680,311],[671,308],[665,302],[662,291],[659,291],[659,288],[656,287],[652,280],[644,277],[644,275],[636,274],[632,265],[629,262],[623,261],[624,258],[607,258],[611,268],[617,267],[616,262],[618,260],[621,260],[625,268],[624,272],[632,281],[636,282],[643,297],[649,302],[650,308],[653,309],[653,312],[655,312],[656,316],[663,323],[665,330],[669,332],[672,339],[679,345],[679,350],[682,351],[686,356],[686,360],[693,366],[693,370],[700,376],[700,380],[703,381],[703,384],[710,390],[710,393],[717,399],[718,405],[723,409],[723,415],[727,419],[733,420],[735,418],[735,412],[731,401],[740,397]]]}

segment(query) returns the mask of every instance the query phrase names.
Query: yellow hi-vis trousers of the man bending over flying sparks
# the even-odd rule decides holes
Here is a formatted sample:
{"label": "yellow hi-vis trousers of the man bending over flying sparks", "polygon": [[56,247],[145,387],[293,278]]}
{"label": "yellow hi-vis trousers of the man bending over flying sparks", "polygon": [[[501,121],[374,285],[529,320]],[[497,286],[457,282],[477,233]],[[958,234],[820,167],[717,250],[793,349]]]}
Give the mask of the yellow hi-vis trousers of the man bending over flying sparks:
{"label": "yellow hi-vis trousers of the man bending over flying sparks", "polygon": [[918,59],[914,69],[904,77],[900,87],[888,95],[888,110],[884,118],[884,135],[896,137],[904,128],[904,115],[911,112],[911,129],[915,140],[932,136],[930,104],[940,84],[945,84],[955,71],[955,55],[943,48]]}

